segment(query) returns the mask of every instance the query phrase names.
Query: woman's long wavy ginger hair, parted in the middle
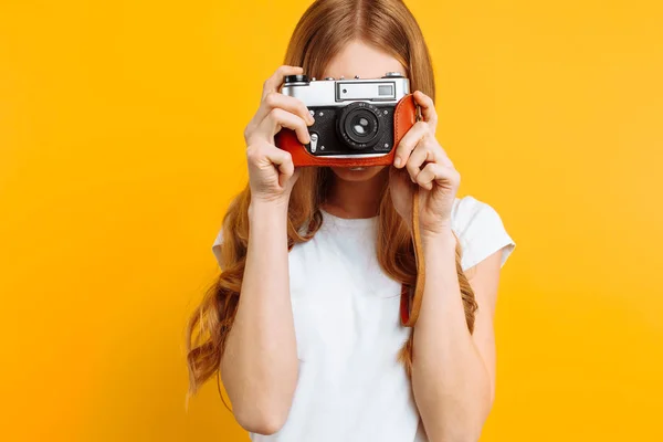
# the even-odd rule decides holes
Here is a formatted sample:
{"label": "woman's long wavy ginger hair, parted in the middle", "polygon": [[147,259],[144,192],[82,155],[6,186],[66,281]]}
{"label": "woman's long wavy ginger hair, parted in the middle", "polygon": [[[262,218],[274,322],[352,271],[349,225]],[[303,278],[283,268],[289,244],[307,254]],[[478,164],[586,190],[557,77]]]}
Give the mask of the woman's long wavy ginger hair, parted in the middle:
{"label": "woman's long wavy ginger hair, parted in the middle", "polygon": [[[303,66],[309,77],[322,78],[326,64],[352,40],[360,40],[393,56],[407,69],[411,91],[420,90],[434,101],[435,85],[429,51],[414,17],[401,0],[316,0],[299,19],[284,64]],[[322,225],[319,207],[325,201],[330,173],[328,168],[303,168],[290,198],[288,250],[311,240]],[[251,190],[246,185],[223,219],[221,274],[187,326],[189,396],[194,394],[210,377],[220,375],[221,356],[238,311],[244,274]],[[396,281],[413,287],[417,265],[412,238],[393,208],[388,186],[380,197],[378,218],[376,248],[380,266]],[[460,243],[456,243],[456,271],[465,319],[470,333],[473,333],[477,305],[461,267],[461,253]],[[408,376],[412,372],[413,349],[413,334],[410,334],[398,355]],[[220,376],[217,381],[220,381]]]}

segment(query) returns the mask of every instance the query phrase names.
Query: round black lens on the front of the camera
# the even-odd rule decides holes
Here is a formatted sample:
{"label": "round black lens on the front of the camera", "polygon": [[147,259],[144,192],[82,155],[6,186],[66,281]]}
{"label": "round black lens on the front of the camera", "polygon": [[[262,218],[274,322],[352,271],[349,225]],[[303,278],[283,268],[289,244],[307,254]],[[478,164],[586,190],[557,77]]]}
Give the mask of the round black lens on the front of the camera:
{"label": "round black lens on the front of the camera", "polygon": [[372,147],[380,134],[381,114],[369,103],[347,105],[338,119],[338,131],[346,145],[355,150]]}

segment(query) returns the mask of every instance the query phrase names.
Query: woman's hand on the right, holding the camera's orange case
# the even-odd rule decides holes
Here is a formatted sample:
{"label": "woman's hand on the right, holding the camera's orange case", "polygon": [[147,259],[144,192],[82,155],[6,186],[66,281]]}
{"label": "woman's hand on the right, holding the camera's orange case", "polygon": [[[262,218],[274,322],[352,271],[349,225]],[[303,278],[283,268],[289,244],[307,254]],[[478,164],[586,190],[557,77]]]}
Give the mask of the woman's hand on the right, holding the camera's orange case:
{"label": "woman's hand on the right, holding the camera's orange case", "polygon": [[423,236],[451,231],[451,209],[461,175],[435,139],[438,114],[431,97],[414,92],[423,120],[401,138],[389,173],[389,190],[398,213],[412,229],[412,194],[419,186],[419,227]]}

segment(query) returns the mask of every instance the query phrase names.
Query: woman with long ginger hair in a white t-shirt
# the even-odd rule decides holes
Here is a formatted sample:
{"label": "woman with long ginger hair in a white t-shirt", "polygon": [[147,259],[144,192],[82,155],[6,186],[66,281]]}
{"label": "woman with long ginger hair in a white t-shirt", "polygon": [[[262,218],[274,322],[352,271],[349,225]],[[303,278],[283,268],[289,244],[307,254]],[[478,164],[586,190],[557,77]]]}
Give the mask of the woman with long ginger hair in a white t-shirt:
{"label": "woman with long ginger hair in a white t-shirt", "polygon": [[[386,72],[410,78],[423,117],[393,165],[295,169],[275,147],[283,127],[308,143],[313,123],[278,92],[285,75]],[[456,198],[436,126],[429,52],[402,1],[308,8],[245,128],[250,180],[212,248],[220,278],[188,328],[190,392],[219,375],[253,441],[480,438],[495,394],[499,270],[515,243],[491,206]],[[419,319],[404,327],[414,194],[427,272]]]}

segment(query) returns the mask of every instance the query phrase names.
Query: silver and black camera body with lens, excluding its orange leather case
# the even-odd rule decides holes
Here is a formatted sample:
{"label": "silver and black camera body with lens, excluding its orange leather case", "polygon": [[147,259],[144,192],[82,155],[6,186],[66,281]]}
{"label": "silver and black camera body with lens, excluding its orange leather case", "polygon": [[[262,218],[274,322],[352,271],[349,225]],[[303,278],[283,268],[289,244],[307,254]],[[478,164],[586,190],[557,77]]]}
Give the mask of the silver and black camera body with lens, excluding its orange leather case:
{"label": "silver and black camera body with lens, excluding its orange leather case", "polygon": [[364,158],[393,149],[393,110],[410,93],[398,72],[381,78],[325,80],[287,75],[281,93],[301,99],[315,118],[306,150],[318,157]]}

